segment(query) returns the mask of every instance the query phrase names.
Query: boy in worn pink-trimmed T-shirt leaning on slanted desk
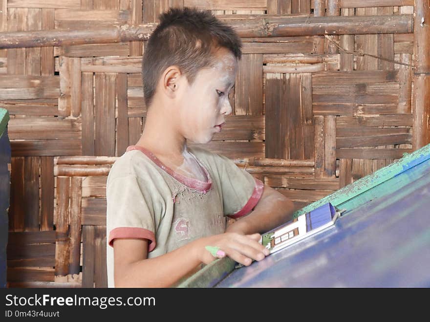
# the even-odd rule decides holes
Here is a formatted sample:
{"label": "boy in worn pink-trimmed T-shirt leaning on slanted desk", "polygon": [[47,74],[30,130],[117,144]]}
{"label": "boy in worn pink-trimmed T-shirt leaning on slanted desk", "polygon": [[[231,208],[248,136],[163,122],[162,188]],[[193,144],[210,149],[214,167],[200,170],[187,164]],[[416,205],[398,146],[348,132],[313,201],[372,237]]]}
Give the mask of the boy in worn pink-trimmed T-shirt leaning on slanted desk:
{"label": "boy in worn pink-trimmed T-shirt leaning on slanted desk", "polygon": [[[293,203],[208,143],[232,112],[240,38],[210,12],[170,9],[145,47],[145,129],[107,181],[108,286],[172,286],[202,263],[269,254],[260,235]],[[226,215],[238,218],[226,229]],[[206,246],[219,249],[212,255]]]}

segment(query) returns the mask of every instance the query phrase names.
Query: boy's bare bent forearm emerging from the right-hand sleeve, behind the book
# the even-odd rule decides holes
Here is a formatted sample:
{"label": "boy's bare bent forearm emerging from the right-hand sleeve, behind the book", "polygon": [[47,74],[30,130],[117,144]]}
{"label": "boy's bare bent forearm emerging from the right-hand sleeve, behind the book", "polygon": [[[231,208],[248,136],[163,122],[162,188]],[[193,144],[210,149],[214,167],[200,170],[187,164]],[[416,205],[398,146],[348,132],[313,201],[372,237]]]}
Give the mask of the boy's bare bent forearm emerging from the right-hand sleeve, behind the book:
{"label": "boy's bare bent forearm emerging from the right-hand sleeve, behind the book", "polygon": [[239,234],[265,233],[293,218],[294,204],[282,193],[264,185],[257,206],[249,215],[240,217],[226,232]]}

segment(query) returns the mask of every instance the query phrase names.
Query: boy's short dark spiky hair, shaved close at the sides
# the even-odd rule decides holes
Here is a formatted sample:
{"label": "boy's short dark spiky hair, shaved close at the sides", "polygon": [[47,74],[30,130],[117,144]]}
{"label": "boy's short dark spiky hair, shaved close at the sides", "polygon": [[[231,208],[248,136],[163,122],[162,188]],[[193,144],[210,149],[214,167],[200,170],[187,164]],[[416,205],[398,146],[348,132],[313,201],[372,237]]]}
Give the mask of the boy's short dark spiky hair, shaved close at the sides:
{"label": "boy's short dark spiky hair, shaved close at the sides", "polygon": [[178,66],[188,82],[193,84],[201,68],[215,63],[214,49],[225,47],[237,59],[241,58],[240,37],[232,27],[218,20],[210,11],[190,7],[170,8],[159,19],[160,23],[145,46],[142,62],[143,92],[147,107],[167,67]]}

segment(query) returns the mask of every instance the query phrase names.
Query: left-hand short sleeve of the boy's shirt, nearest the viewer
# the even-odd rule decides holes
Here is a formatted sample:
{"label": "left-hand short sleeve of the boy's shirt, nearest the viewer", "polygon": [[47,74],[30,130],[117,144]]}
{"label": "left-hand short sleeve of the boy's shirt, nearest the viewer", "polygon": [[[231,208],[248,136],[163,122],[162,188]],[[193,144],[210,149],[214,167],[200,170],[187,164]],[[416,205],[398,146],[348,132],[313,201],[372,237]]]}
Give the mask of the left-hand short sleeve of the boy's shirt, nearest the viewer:
{"label": "left-hand short sleeve of the boy's shirt, nearest the viewer", "polygon": [[108,180],[106,187],[108,244],[115,238],[149,240],[148,252],[156,245],[155,218],[151,196],[143,193],[135,175]]}

